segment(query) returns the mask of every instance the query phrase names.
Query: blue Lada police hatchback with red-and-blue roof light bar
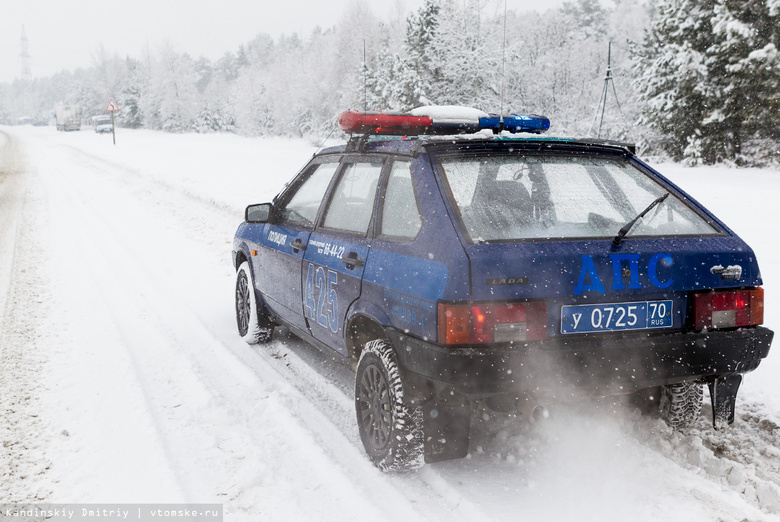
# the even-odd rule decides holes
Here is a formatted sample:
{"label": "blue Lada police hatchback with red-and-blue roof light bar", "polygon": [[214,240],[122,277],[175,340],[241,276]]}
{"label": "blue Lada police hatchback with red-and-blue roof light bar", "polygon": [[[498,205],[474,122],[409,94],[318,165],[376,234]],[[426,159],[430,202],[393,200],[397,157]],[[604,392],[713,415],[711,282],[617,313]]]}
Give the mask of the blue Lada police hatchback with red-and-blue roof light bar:
{"label": "blue Lada police hatchback with red-and-blue roof light bar", "polygon": [[773,337],[758,263],[632,146],[469,108],[339,125],[346,145],[246,209],[236,318],[250,344],[284,325],[352,364],[378,467],[465,456],[476,401],[533,419],[634,394],[686,429],[707,385],[734,421]]}

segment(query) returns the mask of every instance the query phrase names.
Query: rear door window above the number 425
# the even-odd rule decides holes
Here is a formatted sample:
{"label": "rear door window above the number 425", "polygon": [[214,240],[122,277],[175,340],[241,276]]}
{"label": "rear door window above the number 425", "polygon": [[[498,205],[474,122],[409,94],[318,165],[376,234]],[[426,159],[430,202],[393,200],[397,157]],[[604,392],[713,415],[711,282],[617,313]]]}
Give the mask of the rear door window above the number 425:
{"label": "rear door window above the number 425", "polygon": [[365,236],[381,173],[381,162],[347,165],[333,190],[322,226]]}

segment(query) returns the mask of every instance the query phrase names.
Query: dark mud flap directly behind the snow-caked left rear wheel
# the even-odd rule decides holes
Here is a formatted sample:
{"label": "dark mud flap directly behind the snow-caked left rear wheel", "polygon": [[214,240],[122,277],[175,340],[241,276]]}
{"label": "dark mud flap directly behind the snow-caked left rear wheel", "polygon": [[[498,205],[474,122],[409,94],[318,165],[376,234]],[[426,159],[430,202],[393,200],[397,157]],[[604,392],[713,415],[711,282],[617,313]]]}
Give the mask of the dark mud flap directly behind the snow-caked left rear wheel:
{"label": "dark mud flap directly behind the snow-caked left rear wheel", "polygon": [[425,462],[461,459],[469,452],[471,403],[428,401],[423,405]]}

